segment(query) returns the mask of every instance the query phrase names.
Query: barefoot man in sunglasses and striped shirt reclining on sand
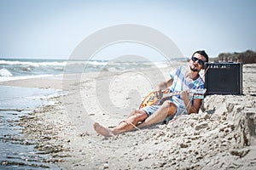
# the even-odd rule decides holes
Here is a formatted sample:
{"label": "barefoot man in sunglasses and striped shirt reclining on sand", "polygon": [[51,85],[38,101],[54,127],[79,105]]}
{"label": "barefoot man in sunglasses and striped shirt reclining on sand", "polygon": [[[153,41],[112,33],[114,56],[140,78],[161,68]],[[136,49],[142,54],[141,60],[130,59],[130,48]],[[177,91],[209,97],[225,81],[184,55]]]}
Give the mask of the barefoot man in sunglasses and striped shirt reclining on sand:
{"label": "barefoot man in sunglasses and striped shirt reclining on sand", "polygon": [[204,82],[199,72],[204,69],[205,62],[208,62],[207,53],[204,50],[196,51],[189,59],[189,68],[178,67],[170,73],[171,78],[169,80],[160,82],[154,89],[154,94],[158,99],[162,97],[163,90],[166,88],[170,88],[172,92],[181,92],[180,95],[172,96],[164,101],[162,105],[151,105],[132,111],[125,121],[120,122],[119,125],[113,128],[103,127],[95,122],[96,133],[108,137],[125,133],[135,127],[145,127],[170,120],[173,116],[198,113],[203,95],[189,96],[188,90],[204,88]]}

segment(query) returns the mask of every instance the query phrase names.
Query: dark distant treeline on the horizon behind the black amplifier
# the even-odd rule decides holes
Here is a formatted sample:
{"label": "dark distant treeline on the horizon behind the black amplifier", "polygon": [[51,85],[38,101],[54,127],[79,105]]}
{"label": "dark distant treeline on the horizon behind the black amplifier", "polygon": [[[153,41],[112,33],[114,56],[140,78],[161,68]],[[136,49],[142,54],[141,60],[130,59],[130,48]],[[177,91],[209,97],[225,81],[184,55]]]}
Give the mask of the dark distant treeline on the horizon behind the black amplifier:
{"label": "dark distant treeline on the horizon behind the black amplifier", "polygon": [[243,64],[256,63],[256,53],[251,50],[233,54],[222,53],[218,54],[217,58],[212,58],[210,60],[214,62],[238,62]]}

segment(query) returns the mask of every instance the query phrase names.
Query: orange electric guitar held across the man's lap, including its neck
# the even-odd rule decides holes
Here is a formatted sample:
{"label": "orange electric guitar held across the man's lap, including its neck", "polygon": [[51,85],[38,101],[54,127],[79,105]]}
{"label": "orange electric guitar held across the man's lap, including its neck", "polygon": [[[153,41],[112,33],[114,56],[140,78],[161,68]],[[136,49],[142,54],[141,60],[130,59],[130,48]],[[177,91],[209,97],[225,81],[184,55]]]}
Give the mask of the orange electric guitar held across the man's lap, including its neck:
{"label": "orange electric guitar held across the man's lap, including its neck", "polygon": [[[140,105],[139,109],[142,109],[143,107],[150,106],[150,105],[160,105],[163,103],[164,99],[175,96],[175,95],[180,95],[183,91],[180,92],[170,92],[170,89],[167,88],[166,90],[163,91],[163,96],[162,98],[158,99],[154,95],[154,91],[150,92],[145,99],[143,99],[142,104]],[[207,89],[206,88],[198,88],[198,89],[189,89],[189,94],[190,95],[198,95],[198,94],[206,94]]]}

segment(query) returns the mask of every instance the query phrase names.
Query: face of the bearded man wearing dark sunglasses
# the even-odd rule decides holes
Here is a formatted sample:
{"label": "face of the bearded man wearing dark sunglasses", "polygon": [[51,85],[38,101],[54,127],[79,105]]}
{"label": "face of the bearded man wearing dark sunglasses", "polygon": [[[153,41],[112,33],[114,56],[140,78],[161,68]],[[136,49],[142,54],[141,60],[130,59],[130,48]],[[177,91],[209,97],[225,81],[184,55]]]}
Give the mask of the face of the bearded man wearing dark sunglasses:
{"label": "face of the bearded man wearing dark sunglasses", "polygon": [[201,69],[203,69],[206,60],[207,59],[201,54],[194,54],[193,57],[189,59],[190,70],[200,72]]}

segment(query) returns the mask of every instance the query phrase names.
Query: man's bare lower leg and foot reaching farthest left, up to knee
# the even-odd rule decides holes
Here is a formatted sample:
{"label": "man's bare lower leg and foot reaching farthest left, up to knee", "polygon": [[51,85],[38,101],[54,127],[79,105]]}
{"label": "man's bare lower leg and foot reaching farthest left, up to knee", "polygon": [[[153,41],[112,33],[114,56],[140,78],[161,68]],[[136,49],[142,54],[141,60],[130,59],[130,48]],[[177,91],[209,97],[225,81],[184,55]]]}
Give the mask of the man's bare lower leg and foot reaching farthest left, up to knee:
{"label": "man's bare lower leg and foot reaching farthest left, up to knee", "polygon": [[131,113],[125,121],[120,122],[118,126],[113,128],[103,127],[98,122],[95,122],[93,127],[96,130],[96,133],[102,134],[103,136],[109,137],[117,135],[119,133],[125,133],[130,131],[138,122],[143,122],[148,117],[148,114],[145,111],[137,110]]}

